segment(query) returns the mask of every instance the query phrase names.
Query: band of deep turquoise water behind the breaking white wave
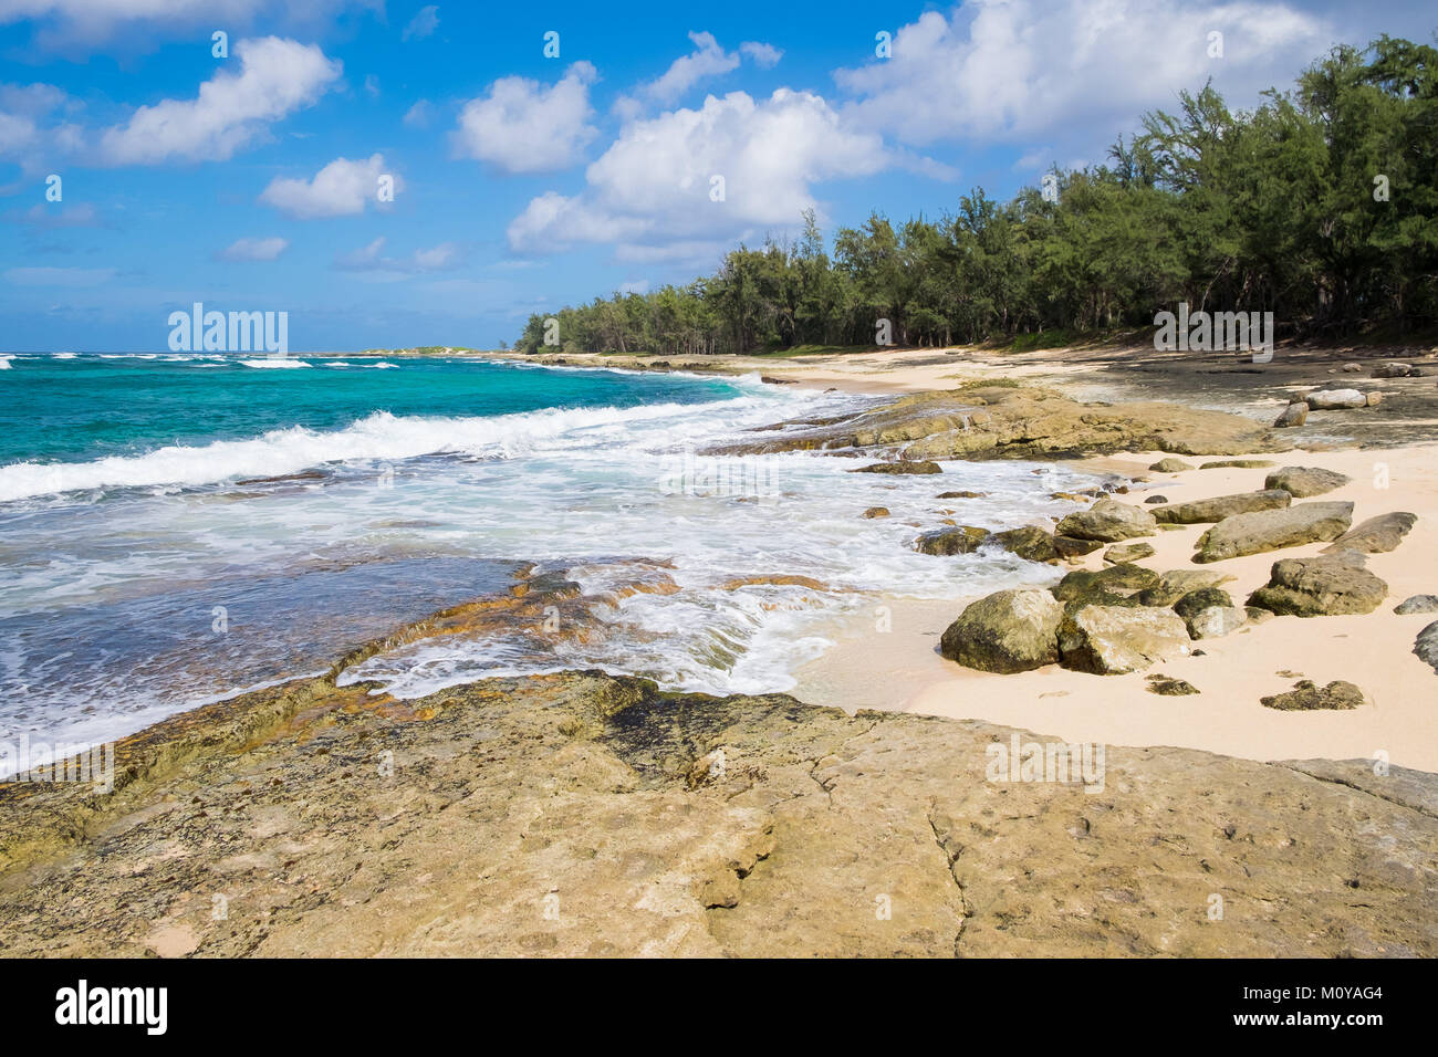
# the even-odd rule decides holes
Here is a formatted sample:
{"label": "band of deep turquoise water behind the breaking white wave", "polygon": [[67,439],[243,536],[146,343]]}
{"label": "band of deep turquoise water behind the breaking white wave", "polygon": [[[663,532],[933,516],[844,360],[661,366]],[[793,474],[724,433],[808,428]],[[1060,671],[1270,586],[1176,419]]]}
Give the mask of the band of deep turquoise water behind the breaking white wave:
{"label": "band of deep turquoise water behind the breaking white wave", "polygon": [[545,407],[689,404],[736,393],[723,380],[437,358],[76,354],[12,357],[9,362],[0,372],[0,466],[134,456],[165,444],[237,440],[290,426],[335,430],[374,411],[469,417]]}

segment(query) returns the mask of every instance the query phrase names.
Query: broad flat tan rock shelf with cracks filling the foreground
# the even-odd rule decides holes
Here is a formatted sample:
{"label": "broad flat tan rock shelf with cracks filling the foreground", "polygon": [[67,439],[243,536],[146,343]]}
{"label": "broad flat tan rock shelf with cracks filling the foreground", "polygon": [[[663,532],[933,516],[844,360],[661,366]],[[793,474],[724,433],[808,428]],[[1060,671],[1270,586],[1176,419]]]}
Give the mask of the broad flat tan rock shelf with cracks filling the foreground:
{"label": "broad flat tan rock shelf with cracks filling the foreground", "polygon": [[201,958],[1438,955],[1421,771],[1110,743],[1089,794],[975,719],[572,672],[406,705],[296,680],[124,739],[114,795],[0,788],[4,953],[138,958],[168,919]]}

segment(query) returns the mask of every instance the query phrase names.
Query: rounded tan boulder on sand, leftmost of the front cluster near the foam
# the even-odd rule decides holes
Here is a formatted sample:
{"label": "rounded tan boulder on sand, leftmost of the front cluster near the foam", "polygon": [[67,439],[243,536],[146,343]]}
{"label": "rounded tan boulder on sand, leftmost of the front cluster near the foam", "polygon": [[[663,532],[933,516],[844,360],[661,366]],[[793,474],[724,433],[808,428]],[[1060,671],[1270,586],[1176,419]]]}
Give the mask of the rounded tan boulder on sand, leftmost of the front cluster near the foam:
{"label": "rounded tan boulder on sand, leftmost of the front cluster near the foam", "polygon": [[998,591],[972,603],[949,624],[939,653],[981,672],[1028,672],[1058,660],[1064,607],[1048,591]]}

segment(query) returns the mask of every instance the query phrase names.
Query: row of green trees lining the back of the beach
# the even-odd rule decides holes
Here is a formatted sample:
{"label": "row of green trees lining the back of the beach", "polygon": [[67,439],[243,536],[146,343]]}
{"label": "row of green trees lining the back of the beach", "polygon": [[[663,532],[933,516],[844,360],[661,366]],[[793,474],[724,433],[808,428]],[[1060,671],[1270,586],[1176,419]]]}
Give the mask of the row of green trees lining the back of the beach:
{"label": "row of green trees lining the back of the beach", "polygon": [[1438,50],[1339,46],[1254,111],[1183,92],[1106,164],[1054,168],[1007,203],[979,188],[938,220],[876,213],[831,249],[802,220],[686,286],[532,315],[516,348],[942,347],[1145,326],[1179,302],[1271,311],[1280,337],[1432,328]]}

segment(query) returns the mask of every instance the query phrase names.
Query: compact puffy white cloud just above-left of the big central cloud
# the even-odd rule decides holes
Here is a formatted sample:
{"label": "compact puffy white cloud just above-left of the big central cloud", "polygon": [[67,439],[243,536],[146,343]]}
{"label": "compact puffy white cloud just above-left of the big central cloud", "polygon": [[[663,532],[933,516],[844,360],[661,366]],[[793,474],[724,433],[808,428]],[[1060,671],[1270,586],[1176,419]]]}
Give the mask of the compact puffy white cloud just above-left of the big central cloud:
{"label": "compact puffy white cloud just above-left of the big central cloud", "polygon": [[594,66],[577,62],[552,88],[528,78],[500,78],[489,93],[464,104],[454,150],[506,173],[549,173],[580,161],[598,131],[588,124]]}

